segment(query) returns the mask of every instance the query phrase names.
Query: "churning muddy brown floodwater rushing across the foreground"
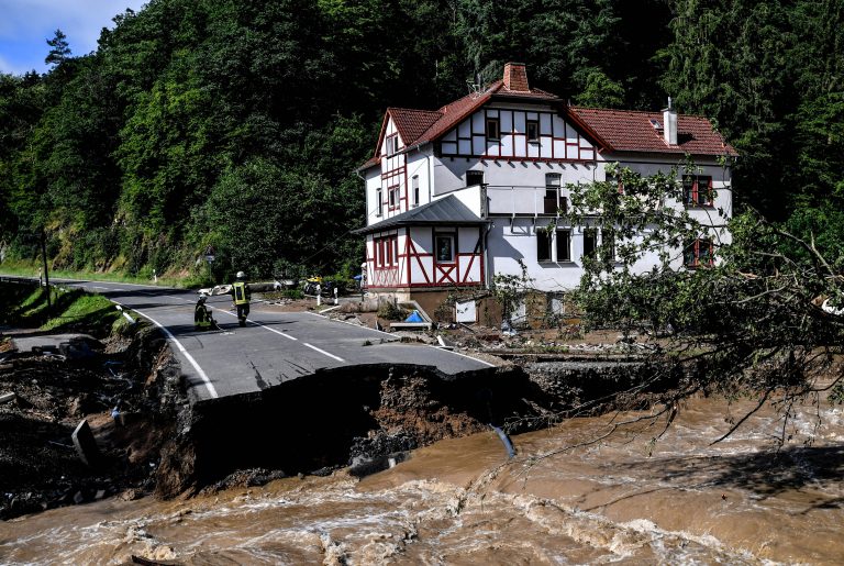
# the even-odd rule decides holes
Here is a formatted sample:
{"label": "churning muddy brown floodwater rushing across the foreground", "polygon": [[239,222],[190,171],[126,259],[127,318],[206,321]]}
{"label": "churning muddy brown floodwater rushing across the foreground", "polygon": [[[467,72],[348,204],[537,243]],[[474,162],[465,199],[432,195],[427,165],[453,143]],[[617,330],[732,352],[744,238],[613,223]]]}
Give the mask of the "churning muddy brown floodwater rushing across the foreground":
{"label": "churning muddy brown floodwater rushing across the foreground", "polygon": [[[286,478],[189,500],[111,499],[0,522],[0,562],[119,564],[841,564],[844,411],[782,421],[693,399],[655,444],[611,417],[441,441],[362,480]],[[820,415],[820,420],[819,420]]]}

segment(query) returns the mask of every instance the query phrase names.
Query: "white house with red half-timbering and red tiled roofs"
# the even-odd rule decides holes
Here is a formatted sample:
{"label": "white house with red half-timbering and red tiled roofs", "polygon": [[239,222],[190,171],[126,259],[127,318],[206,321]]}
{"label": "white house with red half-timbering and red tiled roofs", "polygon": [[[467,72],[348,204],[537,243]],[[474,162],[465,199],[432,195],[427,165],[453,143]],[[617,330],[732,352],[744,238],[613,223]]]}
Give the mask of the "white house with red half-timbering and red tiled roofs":
{"label": "white house with red half-timbering and red tiled roofs", "polygon": [[[670,107],[670,103],[669,103]],[[735,151],[700,116],[570,107],[531,88],[524,65],[436,110],[389,108],[365,180],[368,289],[400,299],[484,288],[499,274],[521,275],[538,290],[578,285],[582,258],[601,244],[590,225],[566,224],[566,186],[607,180],[619,163],[642,174],[668,173],[691,156],[686,207],[711,226],[678,249],[673,266],[712,260],[732,212]],[[681,167],[680,167],[681,169]],[[545,230],[555,225],[554,232]],[[635,268],[658,263],[645,256]]]}

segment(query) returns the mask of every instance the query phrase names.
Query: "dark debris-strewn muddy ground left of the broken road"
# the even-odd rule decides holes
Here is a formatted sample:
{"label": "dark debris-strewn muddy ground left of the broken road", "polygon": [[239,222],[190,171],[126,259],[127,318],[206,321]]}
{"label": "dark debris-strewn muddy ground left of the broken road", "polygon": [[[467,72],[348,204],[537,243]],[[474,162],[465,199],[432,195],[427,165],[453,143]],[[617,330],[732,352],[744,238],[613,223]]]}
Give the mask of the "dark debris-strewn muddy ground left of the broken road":
{"label": "dark debris-strewn muddy ground left of the broken road", "polygon": [[[8,333],[0,337],[0,396],[14,398],[0,403],[0,519],[149,492],[180,403],[166,384],[173,359],[158,333],[106,339],[82,360],[14,352]],[[74,447],[82,420],[102,451],[96,467]]]}

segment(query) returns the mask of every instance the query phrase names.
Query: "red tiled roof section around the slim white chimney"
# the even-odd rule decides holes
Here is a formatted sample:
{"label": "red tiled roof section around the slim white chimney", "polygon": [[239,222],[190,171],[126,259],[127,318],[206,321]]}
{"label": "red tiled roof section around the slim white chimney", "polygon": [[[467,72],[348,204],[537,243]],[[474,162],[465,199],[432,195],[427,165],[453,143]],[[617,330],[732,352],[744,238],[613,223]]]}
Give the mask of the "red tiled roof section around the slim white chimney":
{"label": "red tiled roof section around the slim white chimney", "polygon": [[677,116],[677,145],[665,143],[662,112],[570,107],[569,113],[597,134],[614,152],[670,153],[691,155],[738,155],[703,116]]}

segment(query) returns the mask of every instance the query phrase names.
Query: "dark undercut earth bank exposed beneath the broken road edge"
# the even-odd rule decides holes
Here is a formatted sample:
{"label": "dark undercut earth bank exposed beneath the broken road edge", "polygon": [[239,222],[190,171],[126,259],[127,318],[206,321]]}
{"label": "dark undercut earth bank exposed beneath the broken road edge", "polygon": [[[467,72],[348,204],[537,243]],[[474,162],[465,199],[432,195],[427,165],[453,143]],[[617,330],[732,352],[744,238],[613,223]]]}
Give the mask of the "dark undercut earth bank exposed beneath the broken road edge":
{"label": "dark undercut earth bank exposed beneath the broken road edge", "polygon": [[537,396],[518,368],[458,376],[397,364],[318,370],[258,392],[193,403],[166,450],[157,492],[171,497],[245,469],[279,477],[351,465],[363,475],[412,448],[530,412],[526,399]]}

